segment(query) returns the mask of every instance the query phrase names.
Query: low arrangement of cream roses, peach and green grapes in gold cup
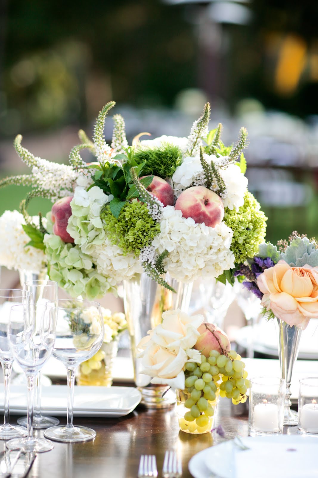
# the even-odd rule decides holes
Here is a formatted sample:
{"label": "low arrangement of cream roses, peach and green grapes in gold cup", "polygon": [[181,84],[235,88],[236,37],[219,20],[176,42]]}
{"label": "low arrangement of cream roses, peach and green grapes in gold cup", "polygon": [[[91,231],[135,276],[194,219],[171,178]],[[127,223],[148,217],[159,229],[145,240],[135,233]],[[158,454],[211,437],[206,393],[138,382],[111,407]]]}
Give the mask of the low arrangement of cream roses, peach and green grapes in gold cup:
{"label": "low arrangement of cream roses, peach and green grapes in gold cup", "polygon": [[219,395],[234,404],[246,402],[245,364],[230,350],[226,334],[204,323],[203,315],[171,310],[162,319],[137,346],[142,373],[152,383],[176,388],[181,430],[210,432]]}

